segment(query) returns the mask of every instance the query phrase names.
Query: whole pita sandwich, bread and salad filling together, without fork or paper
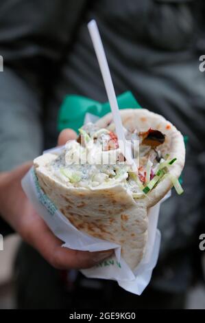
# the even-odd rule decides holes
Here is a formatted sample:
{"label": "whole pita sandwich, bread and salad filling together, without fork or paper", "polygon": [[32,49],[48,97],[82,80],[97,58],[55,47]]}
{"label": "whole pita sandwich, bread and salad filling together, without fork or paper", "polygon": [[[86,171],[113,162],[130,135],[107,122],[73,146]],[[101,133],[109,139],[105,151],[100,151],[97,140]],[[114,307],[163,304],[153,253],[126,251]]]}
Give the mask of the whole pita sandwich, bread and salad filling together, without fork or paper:
{"label": "whole pita sandwich, bread and salad filling together, without fork or paper", "polygon": [[171,122],[146,109],[124,109],[125,137],[138,142],[138,169],[120,151],[112,114],[80,129],[56,155],[34,159],[42,190],[80,231],[121,245],[133,270],[147,243],[147,211],[174,186],[184,167],[183,137]]}

